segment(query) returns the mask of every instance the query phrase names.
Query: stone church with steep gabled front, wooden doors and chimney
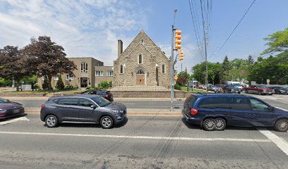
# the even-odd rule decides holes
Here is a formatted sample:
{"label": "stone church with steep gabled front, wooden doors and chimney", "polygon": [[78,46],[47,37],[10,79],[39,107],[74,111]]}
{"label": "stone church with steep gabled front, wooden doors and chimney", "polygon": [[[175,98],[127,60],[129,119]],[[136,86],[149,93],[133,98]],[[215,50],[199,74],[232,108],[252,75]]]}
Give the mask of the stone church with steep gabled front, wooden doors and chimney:
{"label": "stone church with steep gabled front, wooden doors and chimney", "polygon": [[141,30],[123,51],[118,40],[118,58],[114,61],[113,86],[162,86],[169,88],[171,61]]}

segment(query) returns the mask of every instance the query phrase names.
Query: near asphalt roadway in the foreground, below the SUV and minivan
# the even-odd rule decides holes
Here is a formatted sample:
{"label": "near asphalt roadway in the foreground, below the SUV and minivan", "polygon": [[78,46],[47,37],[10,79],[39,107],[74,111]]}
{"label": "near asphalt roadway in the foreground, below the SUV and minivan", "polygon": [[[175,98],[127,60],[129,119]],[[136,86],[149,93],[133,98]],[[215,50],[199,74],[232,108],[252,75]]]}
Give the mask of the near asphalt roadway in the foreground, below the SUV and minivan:
{"label": "near asphalt roadway in the foreground, below the SUV and minivan", "polygon": [[47,128],[35,114],[0,122],[0,168],[9,169],[287,168],[287,149],[287,132],[207,132],[180,117],[129,116],[111,130],[79,123]]}

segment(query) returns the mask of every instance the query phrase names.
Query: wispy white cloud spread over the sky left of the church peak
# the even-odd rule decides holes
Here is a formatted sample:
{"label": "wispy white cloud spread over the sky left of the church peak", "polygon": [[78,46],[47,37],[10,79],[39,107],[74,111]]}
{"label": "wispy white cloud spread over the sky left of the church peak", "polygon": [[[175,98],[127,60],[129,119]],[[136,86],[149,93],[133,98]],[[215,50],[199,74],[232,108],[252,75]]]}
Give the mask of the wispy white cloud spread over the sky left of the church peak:
{"label": "wispy white cloud spread over the sky left of the church peak", "polygon": [[[133,1],[132,1],[133,3]],[[128,45],[144,27],[145,11],[117,0],[0,0],[0,48],[46,35],[64,46],[68,57],[91,56],[105,65],[117,57],[117,39]]]}

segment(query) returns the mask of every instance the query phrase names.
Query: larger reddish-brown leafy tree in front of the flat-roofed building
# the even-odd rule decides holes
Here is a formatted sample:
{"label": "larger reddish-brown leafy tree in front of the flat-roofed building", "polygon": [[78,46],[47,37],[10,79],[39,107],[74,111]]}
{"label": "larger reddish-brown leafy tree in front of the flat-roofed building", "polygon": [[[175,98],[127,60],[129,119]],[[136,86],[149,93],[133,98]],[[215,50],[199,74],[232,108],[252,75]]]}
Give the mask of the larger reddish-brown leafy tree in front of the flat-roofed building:
{"label": "larger reddish-brown leafy tree in front of the flat-roofed building", "polygon": [[72,74],[76,69],[73,61],[69,61],[64,53],[64,48],[52,42],[50,37],[38,37],[30,39],[30,44],[21,50],[23,54],[24,72],[35,73],[39,77],[47,76],[48,87],[52,89],[52,77],[57,74]]}

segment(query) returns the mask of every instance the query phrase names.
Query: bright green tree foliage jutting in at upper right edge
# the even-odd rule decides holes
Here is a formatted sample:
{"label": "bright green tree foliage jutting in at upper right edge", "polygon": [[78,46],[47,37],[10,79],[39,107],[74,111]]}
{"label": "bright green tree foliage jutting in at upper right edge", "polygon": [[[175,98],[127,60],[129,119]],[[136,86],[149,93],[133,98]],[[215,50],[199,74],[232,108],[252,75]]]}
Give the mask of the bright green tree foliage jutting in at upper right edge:
{"label": "bright green tree foliage jutting in at upper right edge", "polygon": [[268,46],[268,49],[265,49],[261,55],[274,53],[281,54],[288,49],[288,28],[268,35],[264,40],[268,41],[268,43],[265,44]]}

